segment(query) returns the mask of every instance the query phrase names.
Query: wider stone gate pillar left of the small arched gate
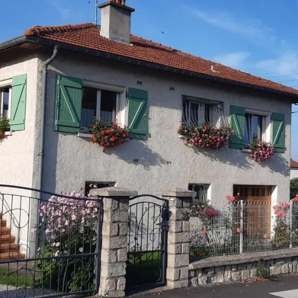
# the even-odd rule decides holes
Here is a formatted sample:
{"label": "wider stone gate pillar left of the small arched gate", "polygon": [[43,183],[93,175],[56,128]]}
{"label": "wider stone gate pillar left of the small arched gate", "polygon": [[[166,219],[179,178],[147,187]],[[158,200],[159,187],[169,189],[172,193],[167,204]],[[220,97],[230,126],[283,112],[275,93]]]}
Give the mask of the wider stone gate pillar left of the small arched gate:
{"label": "wider stone gate pillar left of the small arched gate", "polygon": [[91,189],[103,200],[102,246],[99,295],[124,297],[128,253],[129,198],[137,191],[120,187]]}

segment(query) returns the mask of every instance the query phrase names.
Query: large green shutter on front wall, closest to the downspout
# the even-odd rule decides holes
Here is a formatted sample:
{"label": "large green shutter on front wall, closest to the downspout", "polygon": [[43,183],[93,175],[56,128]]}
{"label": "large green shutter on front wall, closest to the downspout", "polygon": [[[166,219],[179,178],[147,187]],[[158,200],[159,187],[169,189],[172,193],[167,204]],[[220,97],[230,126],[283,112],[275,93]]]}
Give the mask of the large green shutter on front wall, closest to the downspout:
{"label": "large green shutter on front wall, closest to the downspout", "polygon": [[82,103],[82,80],[57,75],[54,130],[78,133]]}

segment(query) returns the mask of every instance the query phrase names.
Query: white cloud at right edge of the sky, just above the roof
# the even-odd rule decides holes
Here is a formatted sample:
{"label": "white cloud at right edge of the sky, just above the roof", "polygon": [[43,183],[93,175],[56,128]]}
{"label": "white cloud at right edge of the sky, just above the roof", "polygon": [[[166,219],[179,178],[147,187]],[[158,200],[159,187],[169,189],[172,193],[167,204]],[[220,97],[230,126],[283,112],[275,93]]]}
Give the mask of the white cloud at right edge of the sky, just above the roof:
{"label": "white cloud at right edge of the sky, just above the roof", "polygon": [[[276,59],[263,60],[259,62],[256,67],[270,75],[296,74],[298,73],[298,54],[288,52]],[[291,76],[290,78],[286,76],[276,79],[287,80],[296,78],[298,78],[298,75]]]}

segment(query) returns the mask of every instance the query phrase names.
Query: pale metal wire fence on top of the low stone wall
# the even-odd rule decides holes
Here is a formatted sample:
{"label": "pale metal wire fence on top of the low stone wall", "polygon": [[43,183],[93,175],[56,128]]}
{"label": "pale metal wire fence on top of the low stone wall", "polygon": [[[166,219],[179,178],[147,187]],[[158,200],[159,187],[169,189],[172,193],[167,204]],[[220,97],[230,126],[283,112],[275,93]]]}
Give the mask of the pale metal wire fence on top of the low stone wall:
{"label": "pale metal wire fence on top of the low stone wall", "polygon": [[197,203],[190,216],[190,258],[298,246],[298,202]]}

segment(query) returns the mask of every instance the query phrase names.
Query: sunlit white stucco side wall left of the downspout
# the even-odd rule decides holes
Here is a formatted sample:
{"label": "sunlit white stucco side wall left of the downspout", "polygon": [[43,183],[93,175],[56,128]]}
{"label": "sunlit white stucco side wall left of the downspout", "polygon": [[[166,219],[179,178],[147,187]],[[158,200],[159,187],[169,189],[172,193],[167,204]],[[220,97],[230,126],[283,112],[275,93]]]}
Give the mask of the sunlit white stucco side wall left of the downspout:
{"label": "sunlit white stucco side wall left of the downspout", "polygon": [[[35,154],[35,136],[39,130],[39,121],[36,122],[35,119],[36,113],[39,113],[36,109],[39,92],[37,85],[41,79],[38,72],[39,64],[40,60],[36,53],[29,55],[21,52],[1,53],[0,83],[12,80],[15,75],[27,74],[27,88],[25,130],[13,132],[0,143],[0,184],[29,188],[36,186],[33,185],[33,168],[38,161]],[[28,234],[28,229],[32,225],[29,221],[36,221],[37,200],[31,199],[32,196],[34,194],[31,191],[0,187],[0,212],[7,220],[11,234],[17,237],[16,243],[21,244],[20,249],[26,252],[27,256],[29,256],[27,238],[34,238],[31,232]]]}

